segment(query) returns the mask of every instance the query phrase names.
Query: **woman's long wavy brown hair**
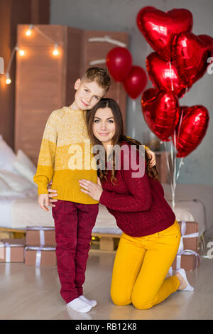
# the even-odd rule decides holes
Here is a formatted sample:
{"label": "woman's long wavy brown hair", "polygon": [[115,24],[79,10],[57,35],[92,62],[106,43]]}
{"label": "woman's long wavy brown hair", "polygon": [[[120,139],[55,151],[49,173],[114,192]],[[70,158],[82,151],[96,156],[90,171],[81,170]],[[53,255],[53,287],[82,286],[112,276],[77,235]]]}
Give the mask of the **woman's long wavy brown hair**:
{"label": "woman's long wavy brown hair", "polygon": [[[89,134],[89,137],[92,141],[93,145],[102,145],[102,142],[97,139],[96,136],[94,136],[93,133],[93,124],[94,124],[94,117],[97,112],[97,109],[100,108],[110,108],[111,112],[114,117],[114,122],[116,125],[116,130],[113,138],[111,139],[112,145],[119,145],[121,146],[121,143],[124,144],[126,142],[130,145],[136,145],[136,148],[139,149],[139,146],[141,143],[137,141],[136,139],[131,139],[124,135],[124,125],[123,125],[123,119],[121,110],[119,108],[119,104],[114,99],[101,99],[91,110],[89,110],[86,114],[86,121],[87,121],[87,131]],[[116,181],[116,169],[115,169],[115,152],[113,156],[113,169],[111,170],[111,182]],[[107,158],[107,152],[105,152],[105,159]],[[145,159],[146,159],[146,173],[148,176],[154,179],[158,179],[158,171],[155,166],[151,167],[150,158],[148,158],[148,154],[145,149]],[[106,160],[107,161],[107,160]],[[99,163],[99,161],[97,161]],[[107,166],[105,166],[105,169],[98,169],[98,176],[100,180],[103,179],[107,180]]]}

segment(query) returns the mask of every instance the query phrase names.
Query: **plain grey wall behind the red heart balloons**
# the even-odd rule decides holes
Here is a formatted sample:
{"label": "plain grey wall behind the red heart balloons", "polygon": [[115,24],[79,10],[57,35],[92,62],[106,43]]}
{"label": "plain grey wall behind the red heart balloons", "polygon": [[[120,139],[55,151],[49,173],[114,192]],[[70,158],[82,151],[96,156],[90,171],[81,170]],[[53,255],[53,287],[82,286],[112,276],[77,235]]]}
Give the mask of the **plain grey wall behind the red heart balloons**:
{"label": "plain grey wall behind the red heart balloons", "polygon": [[[50,23],[76,28],[125,31],[130,36],[129,50],[133,65],[145,68],[146,56],[152,52],[143,35],[138,31],[136,15],[144,6],[155,6],[163,11],[185,8],[192,12],[196,35],[213,36],[212,0],[51,0]],[[152,87],[148,82],[147,87]],[[180,99],[180,105],[203,104],[209,110],[210,122],[207,134],[198,148],[184,159],[179,183],[203,183],[213,185],[213,74],[205,74],[191,90]],[[150,131],[141,114],[140,98],[136,100],[133,112],[131,99],[128,100],[126,134],[140,141],[146,140]]]}

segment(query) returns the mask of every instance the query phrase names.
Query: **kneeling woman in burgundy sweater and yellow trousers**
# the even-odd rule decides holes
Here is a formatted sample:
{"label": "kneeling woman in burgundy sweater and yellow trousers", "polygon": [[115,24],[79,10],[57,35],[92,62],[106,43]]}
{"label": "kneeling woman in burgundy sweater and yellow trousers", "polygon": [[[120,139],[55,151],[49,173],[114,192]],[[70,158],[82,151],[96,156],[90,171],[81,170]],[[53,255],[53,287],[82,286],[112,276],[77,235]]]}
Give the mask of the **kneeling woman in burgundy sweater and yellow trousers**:
{"label": "kneeling woman in burgundy sweater and yellow trousers", "polygon": [[[112,301],[147,309],[177,290],[192,291],[184,269],[165,279],[178,252],[180,228],[146,151],[141,173],[140,143],[124,136],[119,105],[102,99],[88,112],[87,129],[92,144],[104,148],[105,156],[97,160],[98,184],[80,180],[81,190],[106,205],[123,231],[112,273]],[[121,148],[119,157],[115,146]],[[137,148],[133,153],[132,147]]]}

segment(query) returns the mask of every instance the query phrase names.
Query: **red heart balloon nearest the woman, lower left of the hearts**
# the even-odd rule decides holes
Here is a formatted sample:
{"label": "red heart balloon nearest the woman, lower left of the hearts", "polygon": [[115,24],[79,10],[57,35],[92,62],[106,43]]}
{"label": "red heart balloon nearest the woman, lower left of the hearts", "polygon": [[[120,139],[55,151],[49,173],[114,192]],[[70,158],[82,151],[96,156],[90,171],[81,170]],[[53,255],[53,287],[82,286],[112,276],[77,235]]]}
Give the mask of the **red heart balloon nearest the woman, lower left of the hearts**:
{"label": "red heart balloon nearest the woman, lower left of the hearts", "polygon": [[143,92],[141,107],[149,128],[158,138],[168,141],[178,124],[178,97],[172,91],[150,88]]}

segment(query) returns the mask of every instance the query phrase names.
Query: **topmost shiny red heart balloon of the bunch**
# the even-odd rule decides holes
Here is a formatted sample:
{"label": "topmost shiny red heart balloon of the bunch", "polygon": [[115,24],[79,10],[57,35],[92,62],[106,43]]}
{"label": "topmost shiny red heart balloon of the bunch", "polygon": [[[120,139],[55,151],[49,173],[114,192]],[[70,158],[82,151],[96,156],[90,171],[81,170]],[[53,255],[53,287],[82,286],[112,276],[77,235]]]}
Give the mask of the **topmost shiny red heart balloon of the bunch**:
{"label": "topmost shiny red heart balloon of the bunch", "polygon": [[192,31],[193,17],[187,9],[160,11],[144,7],[136,18],[138,28],[153,50],[166,60],[171,60],[172,43],[175,34]]}

